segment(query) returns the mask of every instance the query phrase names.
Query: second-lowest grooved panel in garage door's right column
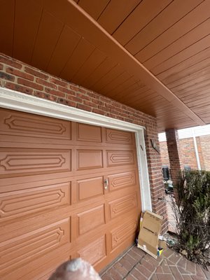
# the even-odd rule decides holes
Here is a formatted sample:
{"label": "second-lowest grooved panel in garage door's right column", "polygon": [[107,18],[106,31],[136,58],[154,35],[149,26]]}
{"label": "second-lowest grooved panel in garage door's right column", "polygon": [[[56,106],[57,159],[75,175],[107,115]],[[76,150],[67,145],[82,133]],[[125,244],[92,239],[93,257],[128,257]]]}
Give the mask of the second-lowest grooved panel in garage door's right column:
{"label": "second-lowest grooved panel in garage door's right column", "polygon": [[137,208],[137,193],[132,193],[131,195],[126,195],[118,200],[113,200],[109,202],[109,215],[110,218],[116,218],[120,215],[128,213],[129,211]]}

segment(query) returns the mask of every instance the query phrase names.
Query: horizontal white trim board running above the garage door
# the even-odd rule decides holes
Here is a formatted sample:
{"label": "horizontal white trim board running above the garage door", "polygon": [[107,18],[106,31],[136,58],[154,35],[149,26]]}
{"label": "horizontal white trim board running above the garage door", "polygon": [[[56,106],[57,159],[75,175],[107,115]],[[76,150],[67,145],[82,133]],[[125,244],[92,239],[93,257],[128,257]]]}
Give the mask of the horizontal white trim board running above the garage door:
{"label": "horizontal white trim board running above the garage door", "polygon": [[4,87],[0,87],[0,106],[7,109],[35,113],[37,115],[61,118],[62,120],[73,120],[78,123],[88,123],[127,130],[135,132],[144,129],[140,125],[116,120],[97,113],[87,112],[63,104],[57,104],[46,99],[41,99],[31,95],[15,92]]}

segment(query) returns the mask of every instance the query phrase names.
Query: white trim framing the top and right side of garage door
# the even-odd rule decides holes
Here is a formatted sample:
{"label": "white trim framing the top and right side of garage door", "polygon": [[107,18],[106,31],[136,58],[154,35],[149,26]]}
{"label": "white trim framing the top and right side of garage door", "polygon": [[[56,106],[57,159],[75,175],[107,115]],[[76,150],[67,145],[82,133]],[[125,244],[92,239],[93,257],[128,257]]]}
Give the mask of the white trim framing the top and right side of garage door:
{"label": "white trim framing the top and right side of garage door", "polygon": [[137,143],[137,160],[139,167],[139,179],[141,189],[141,209],[142,211],[152,211],[151,190],[148,177],[148,165],[146,159],[146,146],[144,141],[144,127],[134,125],[122,120],[116,120],[96,113],[91,113],[73,107],[57,104],[49,100],[41,99],[31,95],[15,92],[4,87],[0,87],[0,107],[36,115],[71,120],[77,123],[87,123],[110,127],[116,130],[134,132]]}

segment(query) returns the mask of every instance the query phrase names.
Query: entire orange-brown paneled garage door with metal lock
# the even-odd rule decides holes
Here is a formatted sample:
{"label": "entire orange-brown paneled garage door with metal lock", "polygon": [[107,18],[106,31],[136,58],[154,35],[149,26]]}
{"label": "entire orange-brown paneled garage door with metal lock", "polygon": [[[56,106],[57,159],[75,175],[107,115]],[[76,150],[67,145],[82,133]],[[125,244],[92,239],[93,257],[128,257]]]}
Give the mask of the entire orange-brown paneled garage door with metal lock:
{"label": "entire orange-brown paneled garage door with metal lock", "polygon": [[99,271],[134,241],[134,134],[0,111],[0,279],[45,280],[81,257]]}

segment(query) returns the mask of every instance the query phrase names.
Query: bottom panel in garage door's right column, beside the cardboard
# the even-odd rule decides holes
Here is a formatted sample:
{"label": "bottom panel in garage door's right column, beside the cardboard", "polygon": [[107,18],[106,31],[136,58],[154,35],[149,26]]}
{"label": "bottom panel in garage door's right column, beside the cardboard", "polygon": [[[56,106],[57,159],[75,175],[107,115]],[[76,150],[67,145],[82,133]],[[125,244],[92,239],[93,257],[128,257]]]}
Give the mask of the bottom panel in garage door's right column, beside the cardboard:
{"label": "bottom panel in garage door's right column, beside the cardboard", "polygon": [[130,220],[121,223],[121,225],[111,230],[111,252],[122,245],[124,241],[134,240],[137,232],[137,223],[137,218],[131,216]]}

